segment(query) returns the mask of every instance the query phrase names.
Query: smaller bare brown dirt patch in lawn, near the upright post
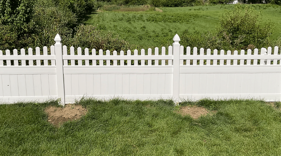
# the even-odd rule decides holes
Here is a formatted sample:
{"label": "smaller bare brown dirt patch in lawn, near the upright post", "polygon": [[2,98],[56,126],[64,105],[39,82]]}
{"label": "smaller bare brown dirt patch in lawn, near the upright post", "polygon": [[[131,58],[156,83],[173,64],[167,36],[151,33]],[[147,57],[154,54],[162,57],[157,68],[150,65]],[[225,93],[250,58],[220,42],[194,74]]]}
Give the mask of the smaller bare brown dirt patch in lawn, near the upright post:
{"label": "smaller bare brown dirt patch in lawn, near the upright post", "polygon": [[180,107],[180,110],[177,111],[177,113],[185,116],[185,115],[190,115],[194,119],[198,119],[201,115],[206,115],[208,113],[214,114],[217,111],[210,111],[206,110],[204,107],[200,106],[184,106]]}

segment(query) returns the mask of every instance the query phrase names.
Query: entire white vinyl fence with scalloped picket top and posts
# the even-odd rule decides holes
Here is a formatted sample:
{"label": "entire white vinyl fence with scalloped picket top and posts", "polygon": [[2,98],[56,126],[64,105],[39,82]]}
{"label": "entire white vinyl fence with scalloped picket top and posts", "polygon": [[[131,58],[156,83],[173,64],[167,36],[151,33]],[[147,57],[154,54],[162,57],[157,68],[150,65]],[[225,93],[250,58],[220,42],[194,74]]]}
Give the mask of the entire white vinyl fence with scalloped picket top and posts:
{"label": "entire white vinyl fence with scalloped picket top and posts", "polygon": [[[36,55],[32,55],[32,48],[28,49],[28,55],[24,49],[21,49],[21,55],[16,49],[13,55],[9,50],[4,55],[0,51],[0,102],[61,98],[64,105],[82,96],[141,100],[173,98],[176,102],[201,98],[280,100],[281,55],[277,46],[273,51],[271,47],[262,48],[260,52],[255,49],[254,55],[251,50],[247,55],[244,50],[239,55],[238,51],[233,54],[227,51],[224,55],[224,50],[211,53],[210,49],[204,55],[203,48],[198,51],[196,47],[191,50],[180,46],[178,35],[173,40],[173,46],[168,50],[156,47],[154,55],[150,48],[147,55],[144,49],[141,55],[137,50],[133,55],[131,51],[127,51],[127,55],[124,51],[120,55],[113,51],[110,55],[108,50],[103,55],[102,50],[89,51],[87,48],[82,55],[80,47],[78,55],[74,55],[74,47],[70,47],[70,55],[67,55],[67,46],[62,46],[58,34],[55,45],[50,47],[51,55],[47,54],[46,46],[43,55],[40,55],[39,47],[35,49]],[[190,55],[191,51],[193,55]],[[20,66],[18,60],[22,60]],[[131,60],[134,60],[133,64]],[[140,64],[138,60],[141,60]]]}

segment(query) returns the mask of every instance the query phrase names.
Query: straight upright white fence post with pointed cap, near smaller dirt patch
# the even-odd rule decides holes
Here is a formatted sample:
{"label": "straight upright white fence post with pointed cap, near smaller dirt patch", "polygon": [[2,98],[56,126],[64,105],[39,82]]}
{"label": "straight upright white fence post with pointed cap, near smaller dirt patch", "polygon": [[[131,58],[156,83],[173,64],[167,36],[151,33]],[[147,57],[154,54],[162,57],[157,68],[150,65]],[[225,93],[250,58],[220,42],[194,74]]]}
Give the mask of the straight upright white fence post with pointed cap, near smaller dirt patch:
{"label": "straight upright white fence post with pointed cap, near smaller dirt patch", "polygon": [[180,101],[180,37],[176,34],[173,38],[173,99],[178,104]]}

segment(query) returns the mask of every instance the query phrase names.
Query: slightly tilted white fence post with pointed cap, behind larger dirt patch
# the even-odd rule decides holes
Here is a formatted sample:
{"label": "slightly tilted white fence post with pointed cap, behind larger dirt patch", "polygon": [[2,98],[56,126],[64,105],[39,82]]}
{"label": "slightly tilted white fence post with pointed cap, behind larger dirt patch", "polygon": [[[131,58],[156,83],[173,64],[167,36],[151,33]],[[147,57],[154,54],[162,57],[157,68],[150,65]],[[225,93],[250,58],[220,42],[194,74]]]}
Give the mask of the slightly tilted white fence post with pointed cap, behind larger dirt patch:
{"label": "slightly tilted white fence post with pointed cap, behind larger dirt patch", "polygon": [[61,98],[61,104],[65,105],[65,90],[64,90],[64,74],[62,64],[62,38],[59,34],[55,39],[55,56],[56,56],[56,71],[57,71],[57,98]]}

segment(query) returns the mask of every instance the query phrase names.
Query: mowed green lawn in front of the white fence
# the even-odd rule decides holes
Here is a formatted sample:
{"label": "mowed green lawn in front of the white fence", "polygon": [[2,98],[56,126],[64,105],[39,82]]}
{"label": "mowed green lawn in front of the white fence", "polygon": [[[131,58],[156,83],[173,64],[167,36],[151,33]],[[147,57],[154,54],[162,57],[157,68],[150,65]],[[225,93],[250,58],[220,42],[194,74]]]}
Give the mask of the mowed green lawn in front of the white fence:
{"label": "mowed green lawn in front of the white fence", "polygon": [[263,101],[200,100],[192,119],[172,100],[84,99],[89,111],[55,128],[50,103],[0,105],[0,155],[280,155],[281,112]]}

